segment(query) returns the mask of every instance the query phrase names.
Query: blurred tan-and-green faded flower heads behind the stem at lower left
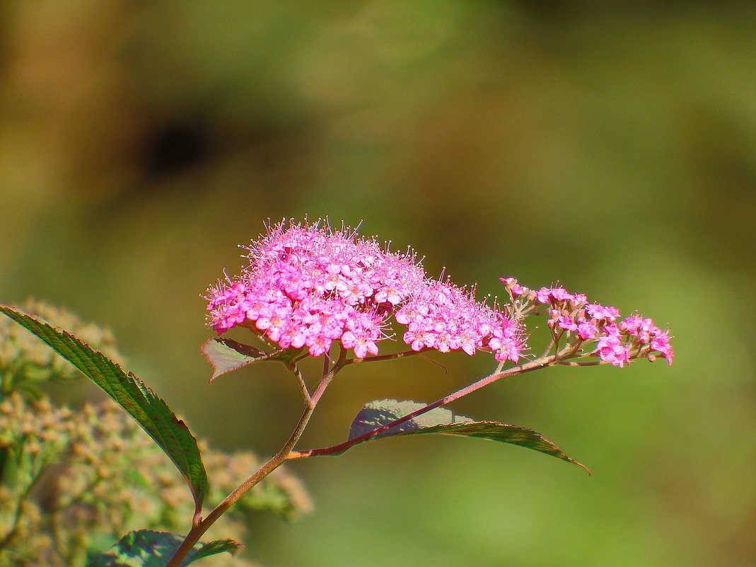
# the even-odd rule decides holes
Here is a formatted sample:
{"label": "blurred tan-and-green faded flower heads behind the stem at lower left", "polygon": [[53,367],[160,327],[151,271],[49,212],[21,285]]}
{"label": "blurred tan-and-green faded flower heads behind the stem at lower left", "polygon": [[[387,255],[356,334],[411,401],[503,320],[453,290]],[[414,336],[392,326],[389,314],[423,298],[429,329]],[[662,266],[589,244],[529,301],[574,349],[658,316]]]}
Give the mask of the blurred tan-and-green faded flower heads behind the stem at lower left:
{"label": "blurred tan-and-green faded flower heads behind the stem at lower left", "polygon": [[[58,313],[44,304],[34,307],[52,316]],[[78,328],[89,329],[87,336],[98,336],[95,326],[79,321]],[[0,318],[0,335],[10,337],[13,347],[2,344],[2,352],[10,354],[0,357],[3,368],[43,375],[58,361],[54,364],[59,368],[48,372],[48,379],[57,379],[61,372],[67,372],[66,378],[80,376],[33,335],[15,335],[13,329],[21,327]],[[22,382],[14,384],[20,387]],[[211,505],[264,463],[249,451],[222,453],[201,441],[200,448],[213,479],[206,499]],[[127,531],[183,533],[193,513],[184,481],[163,450],[110,399],[72,410],[39,392],[30,397],[11,391],[0,400],[0,454],[0,565],[84,565],[86,557],[103,553]],[[243,541],[246,526],[259,511],[295,519],[309,509],[299,479],[280,467],[219,519],[209,537]],[[203,548],[205,556],[215,546],[222,547],[223,541]],[[215,567],[231,562],[226,554],[206,559]],[[240,558],[234,558],[233,565],[253,567]]]}

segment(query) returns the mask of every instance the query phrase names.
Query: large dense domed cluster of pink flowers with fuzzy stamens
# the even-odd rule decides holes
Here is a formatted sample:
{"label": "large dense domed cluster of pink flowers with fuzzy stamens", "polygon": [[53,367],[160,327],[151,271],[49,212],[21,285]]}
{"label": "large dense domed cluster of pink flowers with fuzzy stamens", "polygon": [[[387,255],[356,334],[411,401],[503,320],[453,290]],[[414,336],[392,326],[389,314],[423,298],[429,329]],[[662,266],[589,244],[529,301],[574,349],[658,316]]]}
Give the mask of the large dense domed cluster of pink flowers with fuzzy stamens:
{"label": "large dense domed cluster of pink flowers with fuzzy stamens", "polygon": [[494,352],[519,359],[522,330],[472,292],[426,277],[411,254],[384,251],[373,239],[320,223],[271,226],[248,248],[240,276],[209,288],[209,324],[218,335],[246,326],[282,348],[318,357],[333,341],[355,357],[378,354],[391,317],[407,326],[413,350]]}

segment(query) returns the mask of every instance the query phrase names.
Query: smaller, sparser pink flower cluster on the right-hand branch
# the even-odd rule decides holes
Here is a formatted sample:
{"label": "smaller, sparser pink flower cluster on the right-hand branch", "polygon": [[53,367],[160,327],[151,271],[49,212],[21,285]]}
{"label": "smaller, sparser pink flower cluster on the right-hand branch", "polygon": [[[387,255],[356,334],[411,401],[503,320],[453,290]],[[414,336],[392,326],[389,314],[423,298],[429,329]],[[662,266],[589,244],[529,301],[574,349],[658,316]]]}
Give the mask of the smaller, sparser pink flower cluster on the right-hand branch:
{"label": "smaller, sparser pink flower cluster on the right-hand branch", "polygon": [[548,306],[550,329],[562,330],[577,341],[596,341],[593,353],[605,362],[624,366],[631,358],[658,353],[672,363],[669,334],[654,326],[652,319],[633,315],[618,322],[616,307],[589,304],[584,294],[572,294],[560,287],[531,291],[514,278],[500,279],[513,299]]}

